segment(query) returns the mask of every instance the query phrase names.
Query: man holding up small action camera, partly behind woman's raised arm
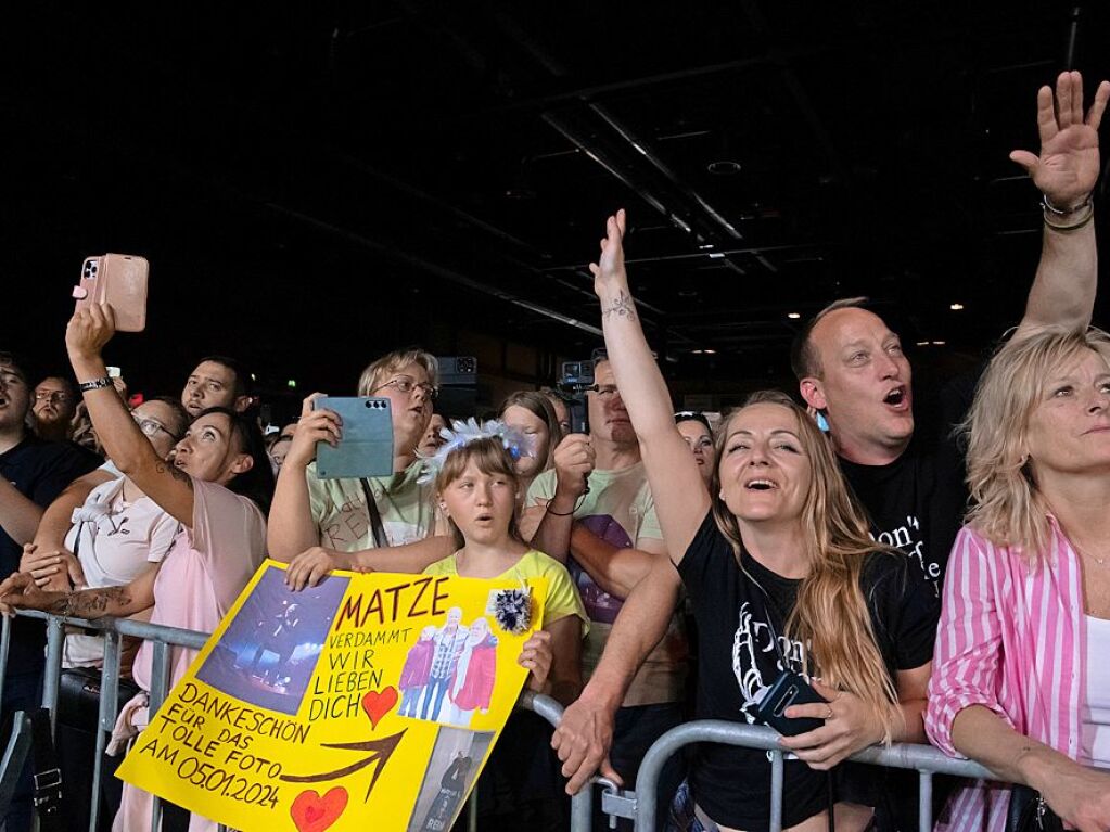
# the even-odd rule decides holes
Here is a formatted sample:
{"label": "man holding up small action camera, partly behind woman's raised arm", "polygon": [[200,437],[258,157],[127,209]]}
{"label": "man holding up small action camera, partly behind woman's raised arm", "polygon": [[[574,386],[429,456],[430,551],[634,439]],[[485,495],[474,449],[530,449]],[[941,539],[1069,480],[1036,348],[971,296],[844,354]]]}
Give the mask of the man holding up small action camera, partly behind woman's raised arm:
{"label": "man holding up small action camera, partly behind woman's raised arm", "polygon": [[[582,595],[591,619],[583,651],[586,677],[601,659],[624,599],[653,564],[667,558],[639,443],[607,361],[594,365],[594,381],[586,394],[591,433],[571,434],[555,448],[554,469],[528,489],[524,520],[528,526],[538,518],[533,546],[566,562]],[[683,720],[686,655],[680,620],[673,616],[616,714],[610,758],[628,788],[652,743]],[[660,778],[660,799],[669,800],[680,780],[676,757]]]}

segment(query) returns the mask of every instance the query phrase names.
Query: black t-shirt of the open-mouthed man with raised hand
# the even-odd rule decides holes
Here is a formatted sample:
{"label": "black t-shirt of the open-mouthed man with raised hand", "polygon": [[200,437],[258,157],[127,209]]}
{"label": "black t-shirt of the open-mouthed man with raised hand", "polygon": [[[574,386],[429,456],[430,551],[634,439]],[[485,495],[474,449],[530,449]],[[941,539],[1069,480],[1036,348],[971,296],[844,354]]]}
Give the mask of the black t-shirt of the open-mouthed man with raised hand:
{"label": "black t-shirt of the open-mouthed man with raised hand", "polygon": [[963,454],[951,432],[967,413],[981,372],[982,366],[961,374],[941,390],[941,425],[919,426],[895,461],[858,465],[840,457],[845,479],[870,516],[872,537],[905,552],[938,598],[968,503]]}

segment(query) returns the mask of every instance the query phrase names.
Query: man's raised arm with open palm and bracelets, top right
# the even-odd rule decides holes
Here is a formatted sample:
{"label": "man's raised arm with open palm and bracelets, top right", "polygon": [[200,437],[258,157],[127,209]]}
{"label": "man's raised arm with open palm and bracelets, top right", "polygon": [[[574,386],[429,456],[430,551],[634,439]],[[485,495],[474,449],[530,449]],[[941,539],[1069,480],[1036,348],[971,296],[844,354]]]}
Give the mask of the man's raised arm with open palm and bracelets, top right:
{"label": "man's raised arm with open palm and bracelets, top right", "polygon": [[1098,283],[1091,192],[1099,177],[1099,124],[1110,99],[1103,81],[1083,118],[1083,81],[1078,72],[1061,72],[1056,106],[1050,87],[1037,93],[1040,155],[1010,153],[1045,195],[1045,230],[1037,276],[1016,337],[1051,325],[1082,328],[1091,322]]}

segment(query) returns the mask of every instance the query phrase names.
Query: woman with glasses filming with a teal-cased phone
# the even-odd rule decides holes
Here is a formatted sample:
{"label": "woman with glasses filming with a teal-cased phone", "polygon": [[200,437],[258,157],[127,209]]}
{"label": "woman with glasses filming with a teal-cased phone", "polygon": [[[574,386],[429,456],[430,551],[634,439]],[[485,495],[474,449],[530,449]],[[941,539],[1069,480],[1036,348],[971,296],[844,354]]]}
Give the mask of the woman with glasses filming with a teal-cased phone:
{"label": "woman with glasses filming with a teal-cased phone", "polygon": [[393,474],[385,477],[316,476],[316,443],[336,445],[343,423],[333,410],[313,409],[322,394],[304,400],[268,537],[270,556],[290,564],[291,587],[315,586],[332,569],[418,572],[451,554],[434,489],[417,481],[424,466],[416,448],[432,418],[437,374],[435,357],[415,348],[389,353],[363,371],[357,395],[390,399]]}

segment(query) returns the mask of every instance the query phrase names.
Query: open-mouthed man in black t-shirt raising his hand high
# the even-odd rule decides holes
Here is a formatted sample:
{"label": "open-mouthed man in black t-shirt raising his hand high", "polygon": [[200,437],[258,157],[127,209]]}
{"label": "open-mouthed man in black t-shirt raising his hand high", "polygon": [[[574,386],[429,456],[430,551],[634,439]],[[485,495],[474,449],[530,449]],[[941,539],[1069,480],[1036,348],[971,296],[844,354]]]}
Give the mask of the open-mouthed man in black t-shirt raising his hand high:
{"label": "open-mouthed man in black t-shirt raising his hand high", "polygon": [[[1091,191],[1099,175],[1098,125],[1110,84],[1103,82],[1086,122],[1078,72],[1038,94],[1040,156],[1010,158],[1030,174],[1045,197],[1041,262],[1026,313],[1013,334],[1045,326],[1081,328],[1091,319],[1098,275]],[[938,593],[967,504],[963,460],[951,425],[928,445],[915,440],[911,368],[898,336],[866,298],[837,301],[798,333],[791,365],[801,397],[823,414],[845,477],[868,510],[880,542],[906,552]],[[965,382],[967,379],[963,379]],[[959,420],[973,384],[949,385],[938,408]]]}

